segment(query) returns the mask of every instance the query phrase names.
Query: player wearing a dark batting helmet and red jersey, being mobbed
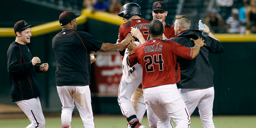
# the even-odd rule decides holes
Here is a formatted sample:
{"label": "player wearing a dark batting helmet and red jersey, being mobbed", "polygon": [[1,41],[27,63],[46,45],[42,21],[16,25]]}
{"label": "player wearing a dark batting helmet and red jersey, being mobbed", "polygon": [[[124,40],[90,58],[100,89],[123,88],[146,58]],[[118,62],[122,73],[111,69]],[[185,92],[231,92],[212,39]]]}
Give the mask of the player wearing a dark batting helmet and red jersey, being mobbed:
{"label": "player wearing a dark batting helmet and red jersey, being mobbed", "polygon": [[[124,37],[130,33],[131,27],[138,28],[142,33],[138,36],[148,40],[148,25],[150,21],[141,18],[139,5],[136,3],[128,3],[123,5],[122,12],[118,15],[123,17],[123,20],[126,22],[119,28],[119,41],[122,41]],[[135,40],[137,40],[137,36],[135,37]],[[137,43],[137,45],[139,44],[140,43]],[[146,111],[146,105],[144,103],[143,91],[141,87],[142,67],[140,64],[135,64],[132,68],[127,65],[126,59],[123,58],[126,58],[129,53],[130,52],[128,49],[120,51],[123,60],[123,76],[119,85],[118,102],[122,114],[126,117],[128,123],[130,124],[130,126],[128,125],[128,128],[145,128],[145,126],[140,124]],[[158,119],[150,107],[147,109],[147,116],[152,117],[151,120],[149,120],[150,128],[156,128]]]}

